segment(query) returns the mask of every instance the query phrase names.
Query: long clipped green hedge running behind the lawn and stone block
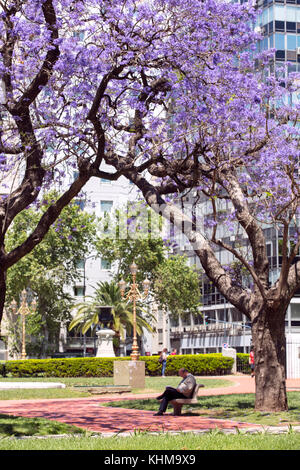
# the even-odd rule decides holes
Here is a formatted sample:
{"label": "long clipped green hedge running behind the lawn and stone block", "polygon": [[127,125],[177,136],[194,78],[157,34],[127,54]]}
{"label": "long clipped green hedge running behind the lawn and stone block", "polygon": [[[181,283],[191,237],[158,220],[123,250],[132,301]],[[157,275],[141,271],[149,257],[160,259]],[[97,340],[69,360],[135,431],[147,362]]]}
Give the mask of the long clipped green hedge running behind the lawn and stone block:
{"label": "long clipped green hedge running behind the lawn and stone block", "polygon": [[[158,356],[142,356],[140,359],[145,362],[146,375],[161,374]],[[115,360],[130,358],[85,357],[6,361],[0,368],[0,374],[4,377],[113,377]],[[224,357],[220,353],[168,356],[166,375],[177,375],[181,367],[185,367],[194,375],[222,375],[231,372],[232,364],[232,358]]]}

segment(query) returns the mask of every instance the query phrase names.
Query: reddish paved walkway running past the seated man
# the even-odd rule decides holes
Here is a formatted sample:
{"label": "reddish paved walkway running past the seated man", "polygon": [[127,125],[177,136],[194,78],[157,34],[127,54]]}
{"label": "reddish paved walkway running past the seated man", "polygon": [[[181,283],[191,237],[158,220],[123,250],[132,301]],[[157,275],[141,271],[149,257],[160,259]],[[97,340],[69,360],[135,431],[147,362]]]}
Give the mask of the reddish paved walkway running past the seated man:
{"label": "reddish paved walkway running past the seated man", "polygon": [[[200,388],[198,396],[221,395],[232,393],[253,393],[254,379],[248,376],[222,376],[232,381],[232,386],[224,388]],[[201,383],[201,378],[197,381]],[[162,389],[167,385],[167,378],[162,379]],[[300,391],[300,379],[288,380],[288,390]],[[112,407],[101,407],[101,403],[133,398],[153,398],[155,394],[126,394],[93,396],[90,398],[72,399],[43,399],[43,400],[2,400],[0,414],[10,414],[24,417],[41,417],[50,420],[72,424],[89,431],[101,432],[103,435],[128,433],[134,430],[148,431],[204,431],[214,428],[235,430],[236,428],[249,431],[261,429],[261,426],[251,423],[241,423],[231,420],[205,418],[200,416],[153,416],[153,411],[127,410]],[[184,412],[184,411],[183,411]]]}

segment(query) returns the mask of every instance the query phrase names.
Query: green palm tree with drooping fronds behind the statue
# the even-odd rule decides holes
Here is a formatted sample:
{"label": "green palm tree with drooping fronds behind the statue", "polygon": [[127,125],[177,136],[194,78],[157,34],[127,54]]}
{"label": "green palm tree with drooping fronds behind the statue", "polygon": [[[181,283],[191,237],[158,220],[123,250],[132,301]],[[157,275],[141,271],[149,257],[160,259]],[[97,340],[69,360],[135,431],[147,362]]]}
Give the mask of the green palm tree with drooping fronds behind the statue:
{"label": "green palm tree with drooping fronds behind the statue", "polygon": [[[77,327],[79,331],[85,334],[90,328],[94,330],[99,322],[97,306],[110,305],[112,307],[113,322],[110,327],[116,332],[116,336],[122,340],[127,335],[132,334],[133,330],[133,312],[132,305],[124,300],[121,296],[119,286],[116,282],[100,282],[97,284],[93,296],[88,297],[90,300],[75,305],[76,315],[69,325],[69,330]],[[137,305],[136,312],[136,329],[137,334],[143,334],[143,328],[153,332],[153,327],[143,318],[142,313],[145,312],[140,305]],[[149,320],[154,320],[153,315],[147,314]]]}

